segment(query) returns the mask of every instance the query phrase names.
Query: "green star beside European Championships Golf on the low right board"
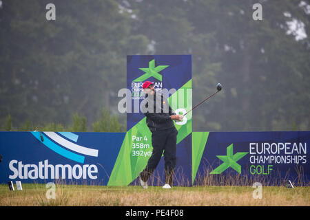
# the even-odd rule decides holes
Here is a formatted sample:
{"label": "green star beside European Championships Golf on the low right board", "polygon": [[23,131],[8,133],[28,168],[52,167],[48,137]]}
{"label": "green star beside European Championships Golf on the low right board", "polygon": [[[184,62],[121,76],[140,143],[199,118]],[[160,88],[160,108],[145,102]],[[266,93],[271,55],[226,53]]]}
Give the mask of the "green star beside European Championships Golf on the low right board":
{"label": "green star beside European Championships Golf on the low right board", "polygon": [[229,167],[233,168],[234,170],[236,170],[238,173],[241,174],[241,166],[240,164],[237,164],[237,161],[241,159],[242,157],[244,157],[245,155],[247,155],[247,152],[238,152],[238,153],[233,154],[234,153],[233,144],[230,144],[229,146],[227,146],[226,150],[227,150],[226,156],[224,155],[216,156],[218,157],[218,159],[222,160],[224,163],[220,164],[220,166],[212,170],[210,174],[223,173]]}

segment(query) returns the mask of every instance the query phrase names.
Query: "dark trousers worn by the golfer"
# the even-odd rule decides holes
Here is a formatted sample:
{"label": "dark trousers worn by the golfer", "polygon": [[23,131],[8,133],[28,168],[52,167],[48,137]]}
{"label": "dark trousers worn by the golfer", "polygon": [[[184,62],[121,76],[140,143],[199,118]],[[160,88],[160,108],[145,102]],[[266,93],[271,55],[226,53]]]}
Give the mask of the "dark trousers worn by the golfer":
{"label": "dark trousers worn by the golfer", "polygon": [[[147,181],[164,154],[165,158],[165,183],[173,186],[174,168],[176,167],[176,135],[178,131],[173,126],[171,129],[154,131],[152,133],[152,156],[149,157],[147,166],[140,173],[141,179]],[[164,153],[163,153],[164,152]]]}

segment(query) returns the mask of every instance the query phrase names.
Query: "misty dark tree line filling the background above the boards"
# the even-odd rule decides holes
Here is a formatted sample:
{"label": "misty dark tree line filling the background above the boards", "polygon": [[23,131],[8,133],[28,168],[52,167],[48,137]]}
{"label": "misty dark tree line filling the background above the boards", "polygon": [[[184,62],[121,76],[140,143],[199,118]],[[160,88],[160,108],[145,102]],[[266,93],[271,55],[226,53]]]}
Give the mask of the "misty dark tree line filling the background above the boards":
{"label": "misty dark tree line filling the background above the boards", "polygon": [[193,105],[223,85],[194,110],[194,131],[310,128],[307,1],[1,2],[2,130],[125,131],[117,92],[132,54],[192,54]]}

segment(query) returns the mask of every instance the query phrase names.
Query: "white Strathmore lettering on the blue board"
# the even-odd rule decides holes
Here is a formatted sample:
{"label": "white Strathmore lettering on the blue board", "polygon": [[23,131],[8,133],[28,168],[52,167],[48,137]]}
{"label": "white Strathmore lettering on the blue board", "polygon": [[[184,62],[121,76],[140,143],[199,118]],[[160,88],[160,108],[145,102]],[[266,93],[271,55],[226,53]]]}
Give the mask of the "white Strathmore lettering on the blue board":
{"label": "white Strathmore lettering on the blue board", "polygon": [[[94,164],[76,164],[73,167],[69,164],[48,164],[48,159],[39,164],[23,164],[16,159],[12,159],[9,164],[13,172],[10,179],[97,179],[98,168]],[[59,176],[61,173],[61,176]]]}

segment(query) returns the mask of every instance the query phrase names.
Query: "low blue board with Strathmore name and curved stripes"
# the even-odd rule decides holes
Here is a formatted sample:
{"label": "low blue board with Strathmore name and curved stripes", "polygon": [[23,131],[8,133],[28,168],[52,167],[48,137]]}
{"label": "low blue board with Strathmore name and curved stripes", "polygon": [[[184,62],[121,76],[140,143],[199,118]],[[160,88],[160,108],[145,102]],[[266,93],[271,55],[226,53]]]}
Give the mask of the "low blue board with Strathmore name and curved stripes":
{"label": "low blue board with Strathmore name and curved stripes", "polygon": [[107,185],[125,133],[0,132],[0,183]]}

